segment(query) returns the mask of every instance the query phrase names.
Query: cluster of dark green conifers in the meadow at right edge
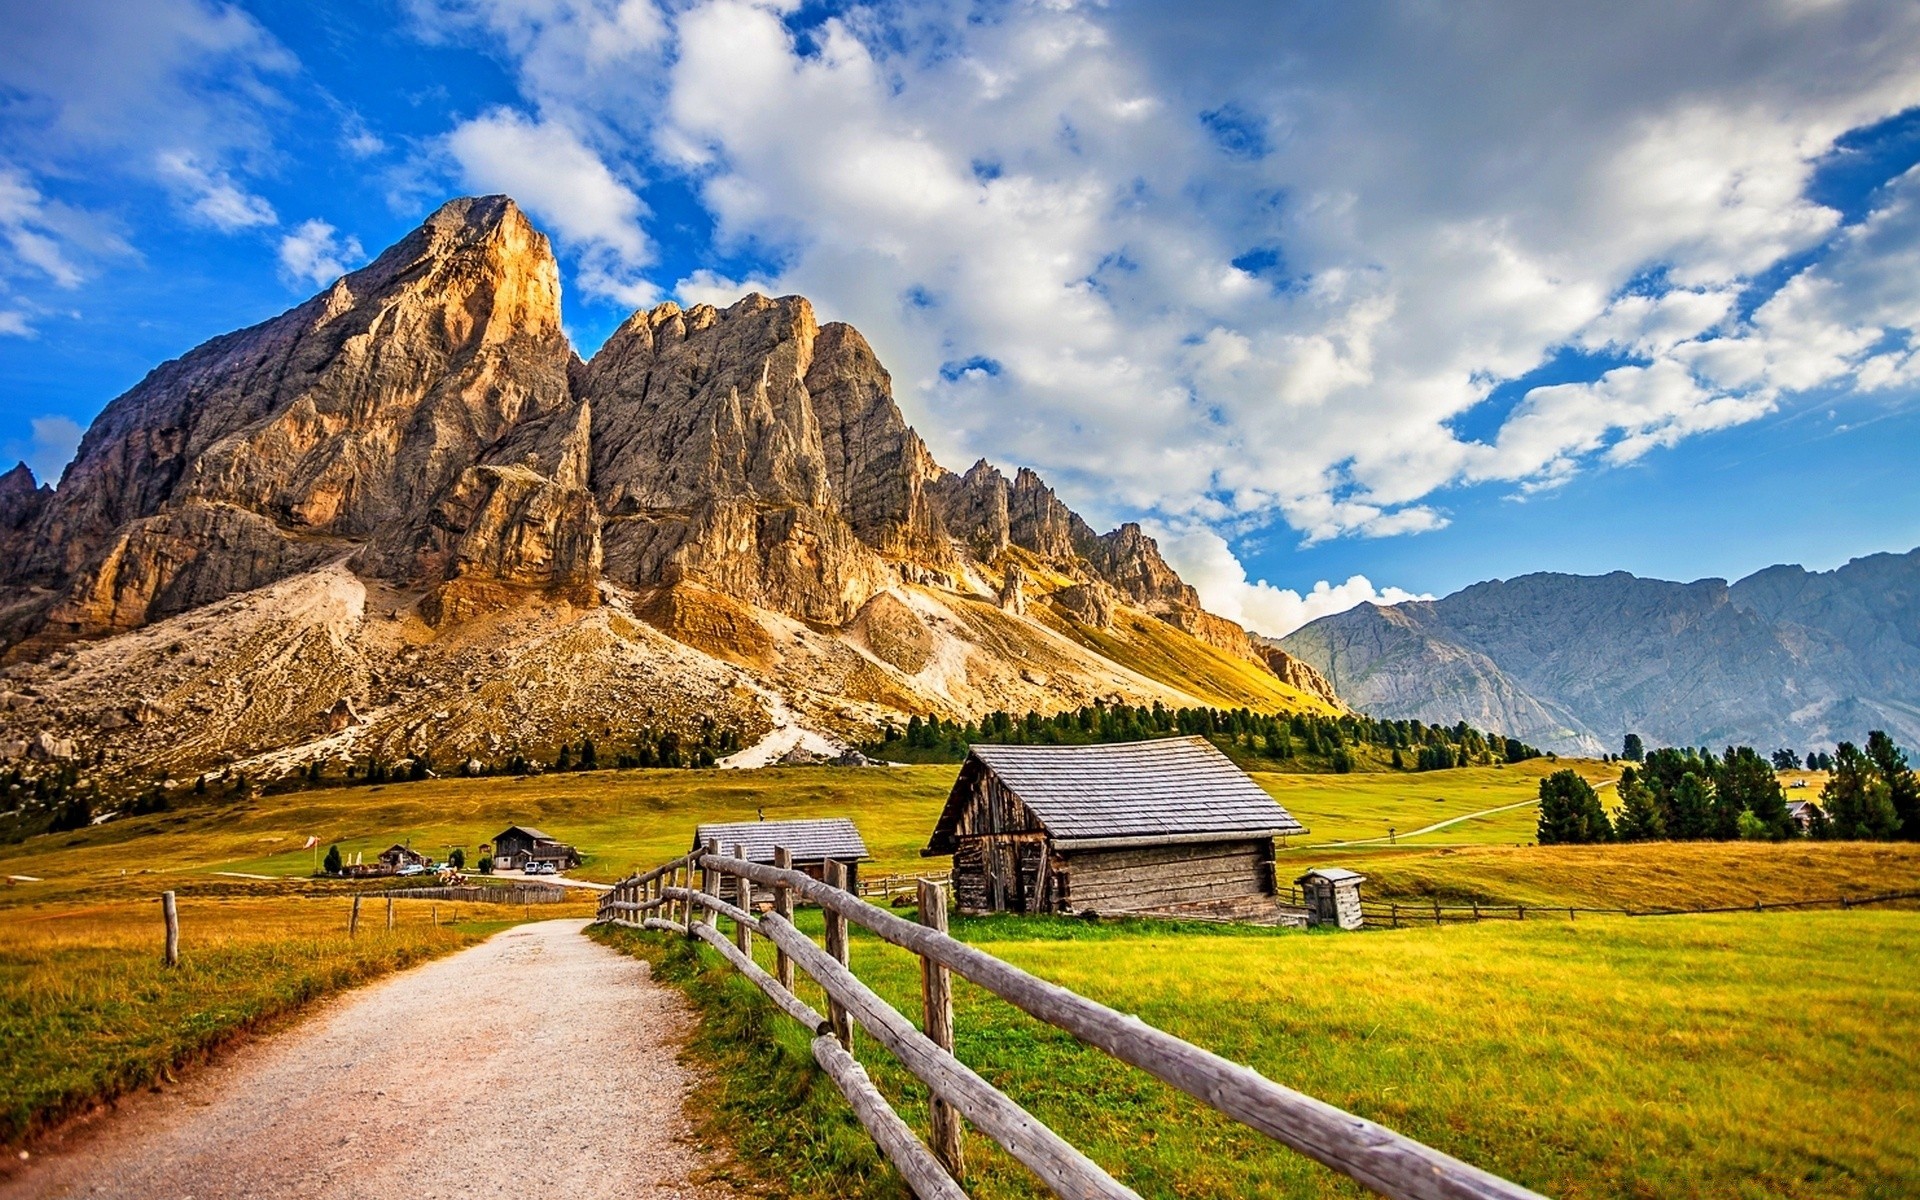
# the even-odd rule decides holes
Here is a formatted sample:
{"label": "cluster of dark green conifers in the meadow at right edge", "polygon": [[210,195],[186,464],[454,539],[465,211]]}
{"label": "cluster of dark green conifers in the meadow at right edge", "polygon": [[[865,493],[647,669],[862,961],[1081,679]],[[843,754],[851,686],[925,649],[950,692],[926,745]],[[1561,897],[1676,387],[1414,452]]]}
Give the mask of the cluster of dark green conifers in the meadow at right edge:
{"label": "cluster of dark green conifers in the meadow at right edge", "polygon": [[[1782,756],[1753,747],[1645,751],[1628,739],[1622,758],[1638,760],[1619,781],[1609,818],[1599,793],[1571,770],[1540,781],[1540,845],[1601,841],[1734,841],[1789,837],[1920,841],[1920,776],[1884,730],[1836,747],[1832,774],[1805,822],[1780,787]],[[1638,751],[1638,758],[1636,758]],[[1814,755],[1809,755],[1814,758]],[[1820,758],[1826,758],[1820,755]]]}

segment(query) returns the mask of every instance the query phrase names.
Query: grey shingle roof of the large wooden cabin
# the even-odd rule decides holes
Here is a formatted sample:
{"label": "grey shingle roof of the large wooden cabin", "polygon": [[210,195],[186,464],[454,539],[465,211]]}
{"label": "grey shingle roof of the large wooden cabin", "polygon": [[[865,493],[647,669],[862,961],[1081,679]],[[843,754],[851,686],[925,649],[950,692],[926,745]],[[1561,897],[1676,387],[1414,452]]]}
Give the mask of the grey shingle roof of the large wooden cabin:
{"label": "grey shingle roof of the large wooden cabin", "polygon": [[[1106,745],[975,745],[929,852],[950,843],[972,774],[991,770],[1056,839],[1304,833],[1206,737]],[[975,766],[975,762],[979,766]]]}

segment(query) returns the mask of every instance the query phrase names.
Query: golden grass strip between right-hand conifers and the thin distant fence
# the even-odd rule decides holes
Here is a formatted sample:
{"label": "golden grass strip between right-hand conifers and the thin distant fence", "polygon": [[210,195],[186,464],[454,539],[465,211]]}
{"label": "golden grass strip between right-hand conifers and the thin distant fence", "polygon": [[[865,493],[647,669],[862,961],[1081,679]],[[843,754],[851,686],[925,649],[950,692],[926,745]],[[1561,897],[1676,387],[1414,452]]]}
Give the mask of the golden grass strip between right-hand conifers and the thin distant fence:
{"label": "golden grass strip between right-hand conifers and the thin distant fence", "polygon": [[[1645,910],[1920,891],[1920,845],[1914,843],[1653,841],[1340,854],[1342,866],[1367,876],[1361,895],[1369,902]],[[1300,866],[1304,870],[1323,862],[1306,852]]]}

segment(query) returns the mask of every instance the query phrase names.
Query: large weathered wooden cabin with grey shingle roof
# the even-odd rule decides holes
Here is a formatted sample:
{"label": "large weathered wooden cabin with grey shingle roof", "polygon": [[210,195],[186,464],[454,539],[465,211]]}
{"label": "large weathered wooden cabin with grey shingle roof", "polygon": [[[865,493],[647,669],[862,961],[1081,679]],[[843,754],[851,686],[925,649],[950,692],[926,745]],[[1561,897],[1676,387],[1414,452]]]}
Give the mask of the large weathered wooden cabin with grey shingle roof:
{"label": "large weathered wooden cabin with grey shingle roof", "polygon": [[1306,833],[1206,737],[975,745],[922,854],[960,912],[1275,906],[1273,839]]}

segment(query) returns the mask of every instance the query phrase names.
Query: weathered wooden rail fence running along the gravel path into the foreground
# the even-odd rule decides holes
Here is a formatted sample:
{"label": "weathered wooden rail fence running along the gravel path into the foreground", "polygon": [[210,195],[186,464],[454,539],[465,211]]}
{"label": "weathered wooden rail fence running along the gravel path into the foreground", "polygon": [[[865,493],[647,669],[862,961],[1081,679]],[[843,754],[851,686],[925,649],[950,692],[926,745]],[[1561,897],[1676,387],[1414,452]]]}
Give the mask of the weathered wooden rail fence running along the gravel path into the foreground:
{"label": "weathered wooden rail fence running along the gravel path into the foreground", "polygon": [[[1127,1185],[954,1058],[954,973],[1382,1196],[1538,1200],[1534,1192],[1498,1175],[954,941],[945,931],[947,893],[933,881],[918,885],[916,924],[845,891],[847,874],[841,864],[829,862],[826,874],[828,879],[820,881],[793,870],[791,856],[783,851],[776,852],[774,866],[764,866],[747,862],[737,849],[733,856],[722,856],[720,847],[708,843],[705,851],[616,883],[601,897],[597,920],[707,943],[766,993],[776,1008],[812,1029],[814,1062],[847,1096],[860,1123],[922,1200],[966,1196],[960,1187],[966,1179],[962,1117],[1025,1164],[1056,1196],[1139,1200]],[[722,877],[735,879],[739,904],[720,899]],[[768,893],[766,912],[756,912],[758,889]],[[793,925],[797,899],[826,910],[824,948]],[[732,937],[720,931],[720,918],[732,924]],[[849,970],[849,922],[920,956],[925,1033]],[[772,973],[753,960],[755,937],[774,943]],[[826,1016],[795,995],[795,966],[826,993]],[[856,1023],[927,1085],[933,1094],[933,1148],[895,1114],[854,1062],[849,1050]]]}

